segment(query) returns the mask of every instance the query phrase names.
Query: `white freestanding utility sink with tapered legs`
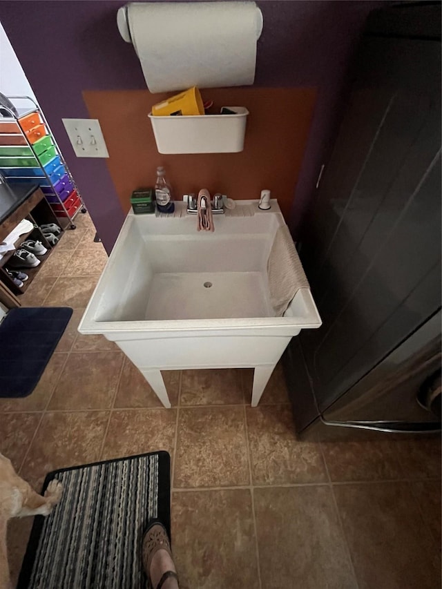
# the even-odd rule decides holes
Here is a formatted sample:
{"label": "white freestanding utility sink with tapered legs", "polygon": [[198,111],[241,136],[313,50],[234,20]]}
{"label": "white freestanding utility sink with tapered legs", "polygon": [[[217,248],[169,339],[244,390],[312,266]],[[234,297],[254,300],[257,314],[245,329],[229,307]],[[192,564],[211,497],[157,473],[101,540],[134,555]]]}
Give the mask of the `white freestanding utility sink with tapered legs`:
{"label": "white freestanding utility sink with tapered legs", "polygon": [[300,288],[285,316],[270,305],[267,259],[284,224],[241,201],[198,232],[184,204],[173,215],[128,213],[79,325],[115,341],[166,407],[162,369],[254,367],[257,405],[282,352],[300,329],[321,325],[311,292]]}

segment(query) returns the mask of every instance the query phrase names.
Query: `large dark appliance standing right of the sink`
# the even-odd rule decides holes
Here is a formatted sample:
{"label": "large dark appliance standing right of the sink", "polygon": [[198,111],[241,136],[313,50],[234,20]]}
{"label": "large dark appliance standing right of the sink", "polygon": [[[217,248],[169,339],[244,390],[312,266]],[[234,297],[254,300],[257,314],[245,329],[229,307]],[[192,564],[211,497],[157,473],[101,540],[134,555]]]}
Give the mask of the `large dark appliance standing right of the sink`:
{"label": "large dark appliance standing right of the sink", "polygon": [[372,12],[300,257],[323,325],[283,358],[296,431],[441,429],[441,5]]}

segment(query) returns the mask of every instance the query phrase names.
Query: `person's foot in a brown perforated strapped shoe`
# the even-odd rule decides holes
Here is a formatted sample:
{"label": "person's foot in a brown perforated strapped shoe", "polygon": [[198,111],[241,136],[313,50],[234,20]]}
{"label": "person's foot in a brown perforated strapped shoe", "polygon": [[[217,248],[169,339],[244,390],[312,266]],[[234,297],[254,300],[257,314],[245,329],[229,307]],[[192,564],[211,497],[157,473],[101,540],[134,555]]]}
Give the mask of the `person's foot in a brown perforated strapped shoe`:
{"label": "person's foot in a brown perforated strapped shoe", "polygon": [[178,577],[171,544],[162,523],[149,525],[144,534],[142,559],[153,589],[177,589]]}

